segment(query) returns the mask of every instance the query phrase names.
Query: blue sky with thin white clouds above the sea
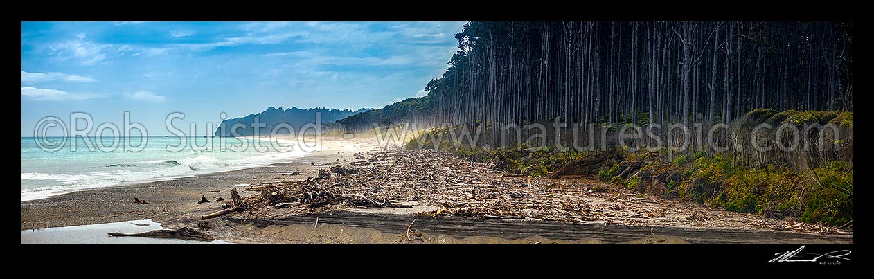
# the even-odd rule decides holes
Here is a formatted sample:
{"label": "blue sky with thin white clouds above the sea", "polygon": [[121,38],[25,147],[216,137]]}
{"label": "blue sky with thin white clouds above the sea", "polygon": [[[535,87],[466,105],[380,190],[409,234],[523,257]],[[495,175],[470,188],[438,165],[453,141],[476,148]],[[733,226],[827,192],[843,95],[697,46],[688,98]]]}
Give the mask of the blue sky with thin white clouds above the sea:
{"label": "blue sky with thin white clouds above the sea", "polygon": [[[71,112],[149,135],[267,107],[381,108],[422,95],[461,22],[24,22],[21,135]],[[180,123],[180,122],[177,122]],[[56,131],[50,133],[57,135]],[[210,132],[212,134],[212,131]]]}

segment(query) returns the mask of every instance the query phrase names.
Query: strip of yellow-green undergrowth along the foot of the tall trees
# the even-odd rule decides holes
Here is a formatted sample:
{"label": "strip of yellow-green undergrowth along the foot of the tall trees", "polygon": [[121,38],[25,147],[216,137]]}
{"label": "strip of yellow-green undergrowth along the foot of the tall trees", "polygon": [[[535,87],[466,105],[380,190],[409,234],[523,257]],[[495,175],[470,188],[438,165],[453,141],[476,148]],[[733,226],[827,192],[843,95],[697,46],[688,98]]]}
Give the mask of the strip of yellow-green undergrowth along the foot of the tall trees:
{"label": "strip of yellow-green undergrowth along the foot of the tall trees", "polygon": [[[835,123],[842,129],[852,127],[852,112],[777,112],[760,108],[746,114],[744,119],[746,123]],[[427,133],[446,132],[434,129]],[[428,136],[427,133],[423,136]],[[456,149],[456,144],[449,140],[436,146],[427,140],[423,143],[421,148],[452,152],[471,161],[491,162],[510,173],[534,177],[589,176],[637,192],[732,212],[792,217],[829,226],[842,226],[853,218],[852,165],[844,159],[822,158],[810,166],[772,162],[753,167],[743,164],[739,156],[732,153],[669,154],[667,150],[630,152],[615,148],[562,151],[554,145],[529,149],[524,144],[512,149],[470,149],[468,144],[457,144],[460,147]],[[420,145],[413,140],[406,147],[415,149]],[[848,148],[851,151],[851,146]],[[593,191],[608,190],[598,186]]]}

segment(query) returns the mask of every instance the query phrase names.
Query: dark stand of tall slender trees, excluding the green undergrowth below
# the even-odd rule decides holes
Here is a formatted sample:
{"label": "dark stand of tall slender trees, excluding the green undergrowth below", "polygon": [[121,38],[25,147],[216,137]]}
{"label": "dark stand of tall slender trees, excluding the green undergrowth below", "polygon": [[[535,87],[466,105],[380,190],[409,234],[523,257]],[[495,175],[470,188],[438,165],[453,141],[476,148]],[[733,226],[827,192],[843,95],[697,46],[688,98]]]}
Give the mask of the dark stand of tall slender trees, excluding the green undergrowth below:
{"label": "dark stand of tall slender trees, excluding the green undergrowth below", "polygon": [[730,122],[754,108],[852,110],[851,30],[836,22],[472,22],[455,34],[458,50],[427,97],[403,101],[416,108],[357,117],[664,123]]}

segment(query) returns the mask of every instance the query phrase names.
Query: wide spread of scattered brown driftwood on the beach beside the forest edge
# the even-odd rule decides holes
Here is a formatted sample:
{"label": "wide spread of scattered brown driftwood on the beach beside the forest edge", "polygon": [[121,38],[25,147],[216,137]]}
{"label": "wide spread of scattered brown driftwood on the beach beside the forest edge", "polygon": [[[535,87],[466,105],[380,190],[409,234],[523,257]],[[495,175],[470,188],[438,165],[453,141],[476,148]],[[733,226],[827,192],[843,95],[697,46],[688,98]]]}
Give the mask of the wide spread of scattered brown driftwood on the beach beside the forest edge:
{"label": "wide spread of scattered brown driftwood on the beach beside the forest edge", "polygon": [[[361,156],[364,157],[364,156]],[[247,187],[260,192],[234,201],[223,211],[251,218],[318,213],[348,208],[434,206],[418,213],[427,218],[448,216],[502,220],[604,221],[635,226],[772,228],[760,216],[713,211],[706,206],[643,196],[620,185],[587,178],[507,177],[494,164],[475,163],[434,150],[392,150],[319,169],[306,179],[264,182]],[[646,157],[623,165],[621,176],[649,175],[660,181],[669,171],[646,173]],[[662,168],[664,169],[664,168]],[[598,187],[595,187],[598,186]],[[239,199],[239,200],[238,200]],[[780,223],[780,221],[777,221]]]}

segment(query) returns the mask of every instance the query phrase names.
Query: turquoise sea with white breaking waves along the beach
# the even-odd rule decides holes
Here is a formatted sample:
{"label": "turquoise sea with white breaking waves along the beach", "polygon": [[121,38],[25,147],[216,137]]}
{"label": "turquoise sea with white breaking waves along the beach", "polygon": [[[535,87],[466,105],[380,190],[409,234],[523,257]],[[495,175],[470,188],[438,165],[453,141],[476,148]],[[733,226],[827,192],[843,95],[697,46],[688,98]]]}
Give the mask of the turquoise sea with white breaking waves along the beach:
{"label": "turquoise sea with white breaking waves along the beach", "polygon": [[[267,139],[188,137],[181,151],[168,150],[182,139],[175,136],[150,136],[145,147],[137,152],[125,151],[121,145],[140,144],[141,138],[122,138],[115,150],[100,150],[94,145],[102,141],[112,145],[111,138],[87,139],[94,149],[89,150],[86,139],[51,138],[65,141],[56,151],[39,148],[37,139],[21,138],[21,200],[41,199],[52,195],[99,187],[133,184],[136,182],[180,178],[216,171],[231,171],[246,167],[287,161],[306,154],[294,139],[274,139],[281,147]],[[241,148],[242,144],[246,148]],[[206,146],[192,148],[192,144]],[[255,149],[260,143],[265,148]],[[312,145],[312,141],[307,142]],[[73,150],[75,144],[76,150]],[[44,144],[45,145],[45,144]],[[236,147],[233,147],[235,145]]]}

